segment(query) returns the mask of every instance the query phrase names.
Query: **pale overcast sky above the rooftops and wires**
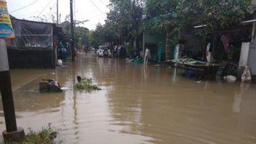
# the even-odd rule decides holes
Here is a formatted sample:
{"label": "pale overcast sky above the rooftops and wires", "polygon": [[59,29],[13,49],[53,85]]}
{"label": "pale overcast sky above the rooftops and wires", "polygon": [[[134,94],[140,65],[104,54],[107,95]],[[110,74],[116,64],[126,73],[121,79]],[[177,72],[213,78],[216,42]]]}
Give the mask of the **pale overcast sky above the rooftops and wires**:
{"label": "pale overcast sky above the rooftops and wires", "polygon": [[[57,0],[7,0],[7,7],[9,14],[18,19],[35,20],[33,16],[46,16],[49,20],[48,22],[52,23],[50,16],[55,15],[56,17],[56,1]],[[70,0],[59,0],[60,22],[63,22],[65,16],[70,13],[69,4]],[[73,15],[74,19],[89,20],[81,26],[87,27],[90,30],[95,29],[97,23],[104,23],[106,13],[109,11],[107,7],[109,0],[73,0],[73,4],[75,12]],[[52,8],[52,10],[50,8]]]}

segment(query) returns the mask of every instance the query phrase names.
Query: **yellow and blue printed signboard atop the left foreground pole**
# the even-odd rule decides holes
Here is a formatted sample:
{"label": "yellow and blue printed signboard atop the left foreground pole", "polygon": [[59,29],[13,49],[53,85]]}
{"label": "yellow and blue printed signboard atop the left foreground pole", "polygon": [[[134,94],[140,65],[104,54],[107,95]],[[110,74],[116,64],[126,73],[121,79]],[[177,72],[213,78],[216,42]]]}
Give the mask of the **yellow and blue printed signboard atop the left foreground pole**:
{"label": "yellow and blue printed signboard atop the left foreground pole", "polygon": [[7,2],[5,0],[0,0],[0,39],[1,38],[15,38],[12,22],[7,10]]}

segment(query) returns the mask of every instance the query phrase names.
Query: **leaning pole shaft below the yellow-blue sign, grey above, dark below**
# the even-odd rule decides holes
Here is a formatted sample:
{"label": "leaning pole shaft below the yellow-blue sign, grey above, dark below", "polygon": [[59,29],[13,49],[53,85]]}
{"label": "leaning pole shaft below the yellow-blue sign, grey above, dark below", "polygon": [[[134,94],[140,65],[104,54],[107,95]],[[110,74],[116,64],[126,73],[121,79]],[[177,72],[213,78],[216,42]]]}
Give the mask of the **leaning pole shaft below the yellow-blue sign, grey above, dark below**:
{"label": "leaning pole shaft below the yellow-blue sign, grey above, dark below", "polygon": [[13,103],[7,47],[4,39],[0,39],[0,90],[7,132],[15,132],[17,131],[15,105]]}

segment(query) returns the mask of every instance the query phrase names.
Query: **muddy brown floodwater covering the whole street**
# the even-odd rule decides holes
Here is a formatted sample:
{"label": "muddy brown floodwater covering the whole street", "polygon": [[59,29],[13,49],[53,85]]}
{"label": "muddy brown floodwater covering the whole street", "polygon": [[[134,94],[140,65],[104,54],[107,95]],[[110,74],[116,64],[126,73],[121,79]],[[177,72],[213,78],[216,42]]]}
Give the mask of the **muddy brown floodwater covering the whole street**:
{"label": "muddy brown floodwater covering the whole street", "polygon": [[[255,84],[197,83],[183,72],[92,55],[56,70],[11,70],[17,126],[28,132],[51,123],[64,143],[256,143]],[[76,76],[103,90],[73,91]],[[49,78],[71,89],[39,93]]]}

